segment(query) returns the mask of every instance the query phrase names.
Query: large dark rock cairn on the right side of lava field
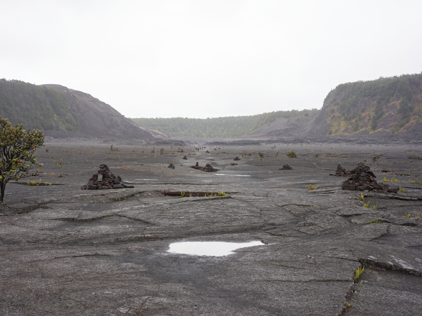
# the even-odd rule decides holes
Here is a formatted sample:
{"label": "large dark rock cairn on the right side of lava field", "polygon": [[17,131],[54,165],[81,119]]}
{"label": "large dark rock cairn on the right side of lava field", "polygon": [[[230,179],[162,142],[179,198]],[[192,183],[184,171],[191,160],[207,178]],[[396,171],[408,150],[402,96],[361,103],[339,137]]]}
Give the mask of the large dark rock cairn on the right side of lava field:
{"label": "large dark rock cairn on the right side of lava field", "polygon": [[374,173],[363,163],[359,163],[358,167],[349,170],[347,175],[349,179],[347,181],[343,181],[343,190],[369,190],[388,193],[397,193],[398,191],[398,188],[390,189],[388,184],[377,183],[376,180],[374,180],[374,178],[376,178]]}

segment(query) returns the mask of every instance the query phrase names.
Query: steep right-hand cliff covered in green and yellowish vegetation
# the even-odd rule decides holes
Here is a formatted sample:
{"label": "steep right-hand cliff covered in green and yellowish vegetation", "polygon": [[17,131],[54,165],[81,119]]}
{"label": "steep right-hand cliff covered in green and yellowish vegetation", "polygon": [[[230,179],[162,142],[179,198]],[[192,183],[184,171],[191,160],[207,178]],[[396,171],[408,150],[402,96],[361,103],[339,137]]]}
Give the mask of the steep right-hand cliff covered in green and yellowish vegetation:
{"label": "steep right-hand cliff covered in green and yellowish vegetation", "polygon": [[422,120],[422,73],[343,83],[324,100],[331,134],[401,132]]}

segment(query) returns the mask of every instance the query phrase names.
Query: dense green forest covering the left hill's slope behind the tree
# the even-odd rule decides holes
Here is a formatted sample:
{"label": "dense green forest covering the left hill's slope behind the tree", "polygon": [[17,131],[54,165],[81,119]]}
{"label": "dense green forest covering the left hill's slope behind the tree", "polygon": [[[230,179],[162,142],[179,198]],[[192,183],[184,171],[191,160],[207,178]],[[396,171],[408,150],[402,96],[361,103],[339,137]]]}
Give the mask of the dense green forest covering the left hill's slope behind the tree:
{"label": "dense green forest covering the left hill's slope behind the tree", "polygon": [[0,115],[43,130],[76,132],[80,127],[65,93],[19,80],[0,79]]}

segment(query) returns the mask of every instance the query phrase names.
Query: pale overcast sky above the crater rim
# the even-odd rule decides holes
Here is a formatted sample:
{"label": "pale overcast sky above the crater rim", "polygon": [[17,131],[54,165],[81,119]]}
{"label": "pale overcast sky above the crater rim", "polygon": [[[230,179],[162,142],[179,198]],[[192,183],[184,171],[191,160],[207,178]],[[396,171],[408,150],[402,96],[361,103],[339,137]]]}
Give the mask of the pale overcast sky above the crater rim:
{"label": "pale overcast sky above the crater rim", "polygon": [[128,117],[321,108],[338,84],[422,71],[422,1],[7,1],[0,78]]}

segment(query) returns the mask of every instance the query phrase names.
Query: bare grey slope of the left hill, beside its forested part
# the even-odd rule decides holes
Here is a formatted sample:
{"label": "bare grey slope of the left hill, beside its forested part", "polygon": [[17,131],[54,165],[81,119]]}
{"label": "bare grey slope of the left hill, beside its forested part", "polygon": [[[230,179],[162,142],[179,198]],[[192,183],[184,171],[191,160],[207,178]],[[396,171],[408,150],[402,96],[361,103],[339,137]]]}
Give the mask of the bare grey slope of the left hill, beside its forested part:
{"label": "bare grey slope of the left hill, beside its forested part", "polygon": [[80,134],[94,137],[155,138],[146,128],[137,126],[112,106],[88,93],[56,84],[42,86],[64,93],[67,103],[76,113]]}

